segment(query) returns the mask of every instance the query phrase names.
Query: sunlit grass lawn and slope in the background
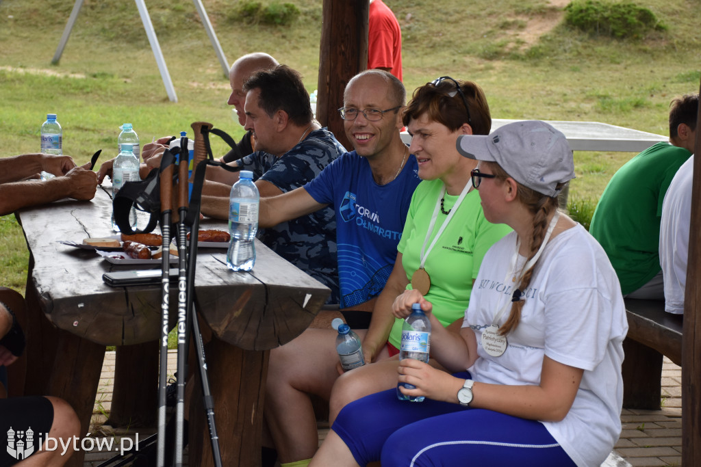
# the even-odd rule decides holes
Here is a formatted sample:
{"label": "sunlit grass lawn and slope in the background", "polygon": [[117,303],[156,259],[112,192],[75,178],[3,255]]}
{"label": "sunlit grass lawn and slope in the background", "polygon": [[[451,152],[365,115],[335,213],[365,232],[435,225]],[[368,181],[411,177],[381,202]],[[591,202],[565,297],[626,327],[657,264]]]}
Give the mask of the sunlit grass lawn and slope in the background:
{"label": "sunlit grass lawn and slope in the background", "polygon": [[[291,0],[289,25],[246,20],[247,1],[205,0],[224,53],[264,50],[318,87],[322,2]],[[46,113],[62,124],[64,153],[87,162],[116,155],[118,126],[131,122],[141,144],[209,121],[243,130],[226,104],[229,83],[189,0],[147,7],[178,102],[168,97],[133,2],[88,0],[59,64],[51,64],[72,1],[0,1],[0,156],[39,150]],[[263,5],[274,3],[262,0]],[[593,120],[667,134],[669,102],[697,92],[701,29],[686,0],[649,0],[666,31],[635,40],[590,36],[564,25],[560,0],[386,0],[400,20],[409,94],[437,76],[484,88],[494,118]],[[224,144],[215,142],[215,152]],[[575,154],[570,198],[593,209],[608,179],[633,153]],[[0,284],[24,292],[27,253],[13,216],[0,218]]]}

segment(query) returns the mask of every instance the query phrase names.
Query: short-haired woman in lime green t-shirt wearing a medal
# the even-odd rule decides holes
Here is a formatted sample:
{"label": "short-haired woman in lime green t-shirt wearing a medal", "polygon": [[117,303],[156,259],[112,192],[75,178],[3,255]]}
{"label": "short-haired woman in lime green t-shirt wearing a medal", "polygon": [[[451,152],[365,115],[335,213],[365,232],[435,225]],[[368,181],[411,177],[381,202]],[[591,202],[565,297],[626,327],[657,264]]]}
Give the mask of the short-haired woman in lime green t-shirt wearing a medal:
{"label": "short-haired woman in lime green t-shirt wearing a medal", "polygon": [[[365,361],[374,363],[336,380],[331,422],[346,403],[397,384],[402,320],[391,312],[395,298],[416,288],[433,303],[442,325],[456,322],[457,332],[484,253],[511,230],[486,221],[470,181],[477,163],[456,149],[459,135],[489,134],[491,128],[489,106],[477,83],[442,77],[417,88],[404,111],[404,125],[423,181],[411,198],[395,267],[362,341]],[[390,359],[383,358],[385,347]]]}

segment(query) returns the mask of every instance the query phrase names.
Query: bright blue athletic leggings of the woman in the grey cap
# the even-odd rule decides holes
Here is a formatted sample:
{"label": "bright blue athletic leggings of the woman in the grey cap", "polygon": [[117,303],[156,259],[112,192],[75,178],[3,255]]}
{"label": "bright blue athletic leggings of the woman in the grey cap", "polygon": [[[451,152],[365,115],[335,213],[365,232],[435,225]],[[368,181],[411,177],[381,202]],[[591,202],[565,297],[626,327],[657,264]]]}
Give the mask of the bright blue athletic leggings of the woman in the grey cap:
{"label": "bright blue athletic leggings of the woman in the grey cap", "polygon": [[361,466],[575,465],[538,421],[428,398],[412,403],[395,389],[346,405],[332,429]]}

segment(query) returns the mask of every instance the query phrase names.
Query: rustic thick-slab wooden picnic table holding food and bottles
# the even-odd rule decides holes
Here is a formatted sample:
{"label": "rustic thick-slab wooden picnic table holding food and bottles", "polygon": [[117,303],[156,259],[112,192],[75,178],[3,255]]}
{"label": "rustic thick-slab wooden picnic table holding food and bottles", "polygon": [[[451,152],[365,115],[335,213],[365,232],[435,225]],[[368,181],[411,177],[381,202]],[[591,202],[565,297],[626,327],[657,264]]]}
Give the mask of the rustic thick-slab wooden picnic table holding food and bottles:
{"label": "rustic thick-slab wooden picnic table holding food and bottles", "polygon": [[[81,243],[85,237],[112,235],[110,216],[111,199],[100,187],[92,202],[62,200],[17,214],[31,253],[26,293],[30,316],[25,393],[67,400],[81,419],[81,433],[89,431],[105,346],[120,346],[118,353],[120,349],[132,349],[131,357],[125,358],[132,368],[123,376],[138,384],[131,384],[132,391],[127,391],[131,393],[123,396],[133,403],[122,410],[152,410],[156,414],[154,370],[161,288],[158,284],[113,288],[104,284],[102,274],[158,269],[160,261],[114,265],[95,251],[58,243]],[[226,227],[221,221],[205,220],[201,228]],[[226,267],[226,249],[198,249],[195,305],[200,322],[212,331],[205,352],[219,445],[227,466],[259,465],[269,349],[289,342],[306,329],[329,294],[320,282],[258,241],[256,250],[256,265],[251,272],[231,272]],[[177,284],[173,284],[171,327],[176,323],[176,292]],[[32,313],[36,309],[43,313]],[[193,398],[189,462],[193,466],[211,465],[205,415],[197,412],[198,406],[200,401]],[[84,454],[76,452],[67,465],[82,466]]]}

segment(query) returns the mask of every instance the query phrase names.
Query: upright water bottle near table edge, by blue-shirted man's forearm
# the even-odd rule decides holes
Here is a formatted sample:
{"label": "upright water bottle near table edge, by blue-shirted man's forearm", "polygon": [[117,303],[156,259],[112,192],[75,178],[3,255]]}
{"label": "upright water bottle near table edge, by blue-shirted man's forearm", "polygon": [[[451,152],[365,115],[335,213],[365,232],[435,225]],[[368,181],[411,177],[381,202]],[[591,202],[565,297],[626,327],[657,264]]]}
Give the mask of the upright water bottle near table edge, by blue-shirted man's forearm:
{"label": "upright water bottle near table edge, by blue-shirted man's forearm", "polygon": [[254,239],[258,231],[260,195],[253,183],[253,172],[242,170],[229,196],[229,232],[226,265],[232,271],[250,271],[256,262]]}

